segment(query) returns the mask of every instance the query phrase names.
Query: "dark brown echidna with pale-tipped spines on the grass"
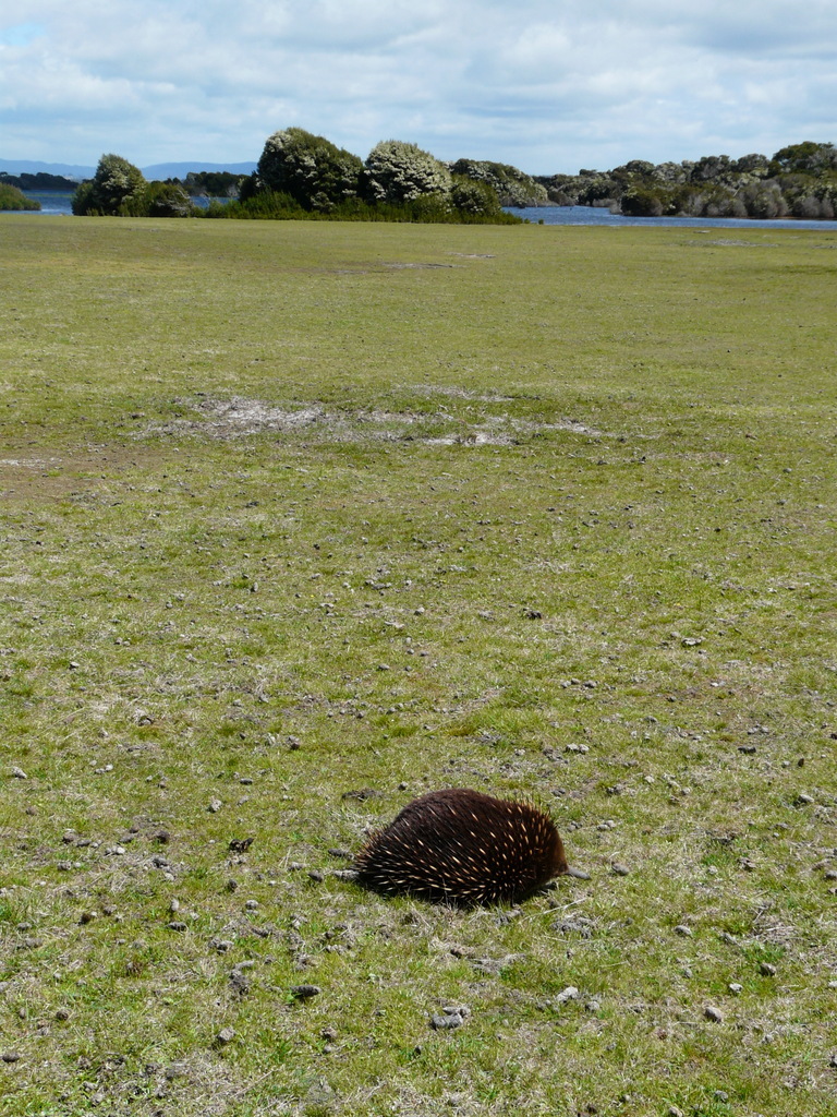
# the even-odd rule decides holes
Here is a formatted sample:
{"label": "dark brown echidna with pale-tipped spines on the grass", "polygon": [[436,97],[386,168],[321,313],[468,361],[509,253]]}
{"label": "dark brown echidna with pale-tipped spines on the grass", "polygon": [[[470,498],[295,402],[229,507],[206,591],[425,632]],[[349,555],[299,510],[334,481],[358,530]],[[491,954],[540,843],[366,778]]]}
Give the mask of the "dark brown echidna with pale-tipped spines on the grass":
{"label": "dark brown echidna with pale-tipped spines on the grass", "polygon": [[355,859],[357,881],[460,907],[517,901],[574,873],[546,811],[451,787],[407,803]]}

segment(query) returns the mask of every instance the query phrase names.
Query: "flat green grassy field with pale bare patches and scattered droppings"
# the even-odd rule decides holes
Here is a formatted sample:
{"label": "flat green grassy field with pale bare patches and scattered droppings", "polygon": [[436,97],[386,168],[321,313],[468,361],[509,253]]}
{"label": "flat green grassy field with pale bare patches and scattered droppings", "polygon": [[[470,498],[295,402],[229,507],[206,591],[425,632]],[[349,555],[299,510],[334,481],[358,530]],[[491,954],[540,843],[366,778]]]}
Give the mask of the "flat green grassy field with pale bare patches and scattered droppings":
{"label": "flat green grassy field with pale bare patches and scattered droppings", "polygon": [[837,1113],[837,236],[0,242],[0,1115]]}

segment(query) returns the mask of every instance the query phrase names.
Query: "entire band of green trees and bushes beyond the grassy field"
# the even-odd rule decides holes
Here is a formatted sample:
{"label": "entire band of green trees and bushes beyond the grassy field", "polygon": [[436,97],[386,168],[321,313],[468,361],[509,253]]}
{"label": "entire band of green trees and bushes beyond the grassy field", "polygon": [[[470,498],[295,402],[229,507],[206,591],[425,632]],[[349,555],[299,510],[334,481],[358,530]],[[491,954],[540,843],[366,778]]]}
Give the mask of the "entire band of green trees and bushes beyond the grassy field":
{"label": "entire band of green trees and bushes beyond the grassy field", "polygon": [[[195,206],[193,199],[213,199]],[[217,199],[223,198],[224,201]],[[606,207],[636,217],[822,218],[837,212],[837,149],[791,144],[771,157],[653,164],[531,176],[506,163],[444,163],[412,143],[386,140],[368,156],[305,128],[275,132],[251,175],[199,172],[147,182],[119,155],[103,155],[73,199],[78,214],[296,218],[374,221],[518,220],[506,208]]]}

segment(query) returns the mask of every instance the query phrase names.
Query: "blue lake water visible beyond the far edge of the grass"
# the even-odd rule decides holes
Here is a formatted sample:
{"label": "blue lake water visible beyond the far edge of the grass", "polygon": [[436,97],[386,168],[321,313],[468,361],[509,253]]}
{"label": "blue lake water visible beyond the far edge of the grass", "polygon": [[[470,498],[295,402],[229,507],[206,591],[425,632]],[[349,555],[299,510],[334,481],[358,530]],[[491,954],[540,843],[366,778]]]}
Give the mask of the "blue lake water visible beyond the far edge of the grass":
{"label": "blue lake water visible beyond the far edge of the grass", "polygon": [[[46,216],[56,213],[73,214],[70,199],[73,194],[58,193],[52,190],[25,191],[27,198],[33,198],[41,204],[40,210],[31,211]],[[200,201],[200,199],[195,199]],[[628,226],[662,226],[692,229],[820,229],[837,230],[837,221],[795,221],[776,218],[770,221],[737,217],[622,217],[606,209],[591,206],[541,206],[537,209],[510,209],[509,213],[527,218],[533,225],[597,225],[609,228],[627,228]]]}

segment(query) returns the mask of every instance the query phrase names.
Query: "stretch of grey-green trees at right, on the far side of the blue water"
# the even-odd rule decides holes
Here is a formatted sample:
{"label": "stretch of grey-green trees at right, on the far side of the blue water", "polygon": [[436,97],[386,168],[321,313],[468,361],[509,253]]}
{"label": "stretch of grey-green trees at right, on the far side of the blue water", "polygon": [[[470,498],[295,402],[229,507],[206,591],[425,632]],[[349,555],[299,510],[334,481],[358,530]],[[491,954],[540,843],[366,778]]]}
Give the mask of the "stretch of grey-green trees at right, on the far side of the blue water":
{"label": "stretch of grey-green trees at right, on the far side of the blue water", "polygon": [[837,147],[791,144],[767,155],[695,162],[633,160],[612,171],[538,176],[554,206],[602,206],[632,217],[834,219]]}

